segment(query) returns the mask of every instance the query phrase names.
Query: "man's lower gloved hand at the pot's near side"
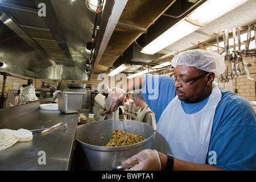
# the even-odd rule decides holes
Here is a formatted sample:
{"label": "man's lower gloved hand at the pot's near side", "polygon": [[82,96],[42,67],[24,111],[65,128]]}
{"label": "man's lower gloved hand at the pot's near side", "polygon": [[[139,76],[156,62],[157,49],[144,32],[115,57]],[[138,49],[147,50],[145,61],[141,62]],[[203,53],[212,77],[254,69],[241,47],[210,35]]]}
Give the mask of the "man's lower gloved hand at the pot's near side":
{"label": "man's lower gloved hand at the pot's near side", "polygon": [[160,171],[161,169],[158,151],[151,149],[145,149],[139,152],[125,160],[123,164],[136,164],[129,169],[130,171]]}

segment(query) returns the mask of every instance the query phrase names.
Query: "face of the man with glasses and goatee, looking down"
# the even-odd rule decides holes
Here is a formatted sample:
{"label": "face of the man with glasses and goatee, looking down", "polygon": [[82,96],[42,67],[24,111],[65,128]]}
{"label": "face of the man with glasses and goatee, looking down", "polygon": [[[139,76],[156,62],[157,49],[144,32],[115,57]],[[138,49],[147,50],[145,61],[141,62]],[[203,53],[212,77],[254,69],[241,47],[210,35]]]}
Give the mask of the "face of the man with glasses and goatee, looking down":
{"label": "face of the man with glasses and goatee, looking down", "polygon": [[[174,72],[176,94],[179,100],[188,103],[197,103],[205,100],[210,94],[209,85],[207,86],[207,73],[200,69],[177,65]],[[192,78],[196,78],[193,80]],[[192,81],[189,81],[189,80]],[[189,81],[189,82],[187,82]],[[211,86],[210,86],[211,88]]]}

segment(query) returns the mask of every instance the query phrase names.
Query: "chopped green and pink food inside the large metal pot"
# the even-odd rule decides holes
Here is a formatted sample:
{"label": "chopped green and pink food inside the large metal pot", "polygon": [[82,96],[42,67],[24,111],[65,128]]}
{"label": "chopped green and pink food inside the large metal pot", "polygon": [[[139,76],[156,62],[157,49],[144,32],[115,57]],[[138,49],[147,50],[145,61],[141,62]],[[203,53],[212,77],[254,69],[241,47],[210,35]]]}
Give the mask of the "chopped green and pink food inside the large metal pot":
{"label": "chopped green and pink food inside the large metal pot", "polygon": [[114,129],[112,133],[112,138],[106,147],[118,147],[127,146],[129,144],[139,143],[145,140],[140,134],[125,133],[122,130]]}

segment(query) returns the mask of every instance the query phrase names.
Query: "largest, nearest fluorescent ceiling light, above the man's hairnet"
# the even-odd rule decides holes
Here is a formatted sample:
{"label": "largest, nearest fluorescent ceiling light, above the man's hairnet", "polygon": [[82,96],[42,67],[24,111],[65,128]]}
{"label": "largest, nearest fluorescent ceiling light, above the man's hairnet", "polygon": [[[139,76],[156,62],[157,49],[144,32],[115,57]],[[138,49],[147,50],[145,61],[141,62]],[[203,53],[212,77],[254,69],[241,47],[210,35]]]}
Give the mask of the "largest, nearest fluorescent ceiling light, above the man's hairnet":
{"label": "largest, nearest fluorescent ceiling light, above the man's hairnet", "polygon": [[158,38],[144,47],[141,52],[154,55],[154,53],[170,46],[177,40],[184,38],[247,1],[249,0],[208,0],[162,35],[158,36]]}

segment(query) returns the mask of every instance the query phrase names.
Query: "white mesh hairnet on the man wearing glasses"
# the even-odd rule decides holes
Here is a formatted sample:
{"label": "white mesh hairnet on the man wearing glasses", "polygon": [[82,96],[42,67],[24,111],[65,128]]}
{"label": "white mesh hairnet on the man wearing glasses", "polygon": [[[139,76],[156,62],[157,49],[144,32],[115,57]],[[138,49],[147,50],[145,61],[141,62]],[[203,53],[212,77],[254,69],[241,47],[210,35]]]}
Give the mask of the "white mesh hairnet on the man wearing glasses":
{"label": "white mesh hairnet on the man wearing glasses", "polygon": [[186,65],[206,72],[214,72],[216,76],[224,73],[226,69],[224,56],[216,52],[193,49],[178,53],[172,59],[172,66]]}

